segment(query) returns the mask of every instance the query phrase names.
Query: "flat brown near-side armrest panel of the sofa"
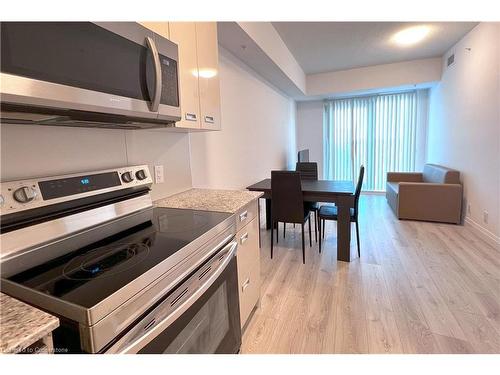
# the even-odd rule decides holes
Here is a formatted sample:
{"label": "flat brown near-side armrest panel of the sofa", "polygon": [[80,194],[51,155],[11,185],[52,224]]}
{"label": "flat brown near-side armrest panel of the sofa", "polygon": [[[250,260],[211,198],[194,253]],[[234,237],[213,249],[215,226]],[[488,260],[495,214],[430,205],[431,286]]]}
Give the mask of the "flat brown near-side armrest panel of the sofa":
{"label": "flat brown near-side armrest panel of the sofa", "polygon": [[406,219],[460,223],[462,185],[399,183],[398,216]]}

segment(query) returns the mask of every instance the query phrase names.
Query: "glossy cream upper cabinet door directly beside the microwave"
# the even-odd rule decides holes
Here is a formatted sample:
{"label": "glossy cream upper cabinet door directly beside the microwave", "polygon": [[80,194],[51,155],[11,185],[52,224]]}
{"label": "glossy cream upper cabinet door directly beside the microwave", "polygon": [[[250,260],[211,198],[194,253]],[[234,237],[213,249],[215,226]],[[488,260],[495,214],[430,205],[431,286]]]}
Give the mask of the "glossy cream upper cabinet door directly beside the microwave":
{"label": "glossy cream upper cabinet door directly beside the microwave", "polygon": [[199,129],[200,95],[198,87],[198,56],[194,22],[170,22],[170,39],[179,46],[179,89],[182,119],[177,128]]}

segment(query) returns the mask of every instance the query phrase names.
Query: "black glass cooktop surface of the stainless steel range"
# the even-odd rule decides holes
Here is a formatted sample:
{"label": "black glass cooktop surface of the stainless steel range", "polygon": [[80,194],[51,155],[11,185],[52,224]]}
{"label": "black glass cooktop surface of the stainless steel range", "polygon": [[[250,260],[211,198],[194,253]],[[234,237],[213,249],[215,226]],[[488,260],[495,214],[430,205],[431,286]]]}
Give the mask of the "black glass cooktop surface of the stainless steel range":
{"label": "black glass cooktop surface of the stainless steel range", "polygon": [[8,279],[91,308],[230,216],[154,208],[150,221]]}

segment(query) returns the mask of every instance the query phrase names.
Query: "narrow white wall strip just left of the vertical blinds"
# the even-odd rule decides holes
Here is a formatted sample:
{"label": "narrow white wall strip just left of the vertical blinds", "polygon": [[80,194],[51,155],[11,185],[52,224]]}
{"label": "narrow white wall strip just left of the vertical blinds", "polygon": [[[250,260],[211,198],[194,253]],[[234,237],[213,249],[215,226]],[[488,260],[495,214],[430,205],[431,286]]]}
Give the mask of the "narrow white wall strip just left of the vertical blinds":
{"label": "narrow white wall strip just left of the vertical blinds", "polygon": [[297,150],[309,149],[309,160],[318,163],[323,176],[323,101],[297,103]]}

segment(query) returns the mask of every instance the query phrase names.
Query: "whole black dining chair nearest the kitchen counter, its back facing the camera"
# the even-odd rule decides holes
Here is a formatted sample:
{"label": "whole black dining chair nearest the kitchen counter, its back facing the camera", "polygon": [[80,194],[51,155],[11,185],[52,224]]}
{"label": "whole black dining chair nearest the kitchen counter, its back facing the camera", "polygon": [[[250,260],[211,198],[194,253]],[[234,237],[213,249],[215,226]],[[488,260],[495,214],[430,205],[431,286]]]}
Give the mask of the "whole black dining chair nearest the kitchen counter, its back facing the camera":
{"label": "whole black dining chair nearest the kitchen counter, its back facing the camera", "polygon": [[302,263],[306,263],[304,224],[309,222],[309,246],[311,240],[311,211],[304,207],[300,173],[296,171],[271,171],[271,259],[273,258],[274,227],[278,243],[278,223],[294,223],[302,226]]}

